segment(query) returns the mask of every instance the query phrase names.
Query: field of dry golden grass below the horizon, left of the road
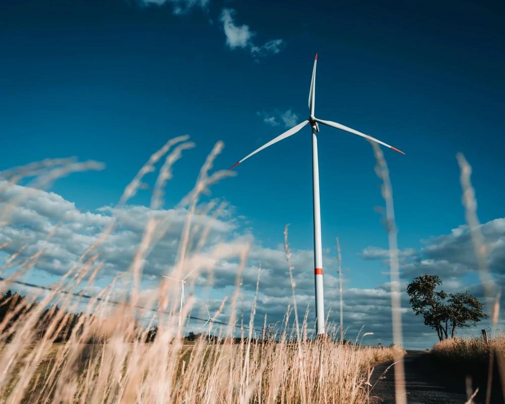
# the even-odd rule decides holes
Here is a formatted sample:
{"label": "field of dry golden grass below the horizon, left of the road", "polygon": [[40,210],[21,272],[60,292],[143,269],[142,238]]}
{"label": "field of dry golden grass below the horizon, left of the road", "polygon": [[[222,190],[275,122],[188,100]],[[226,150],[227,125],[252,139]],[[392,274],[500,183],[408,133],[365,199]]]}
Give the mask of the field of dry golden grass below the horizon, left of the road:
{"label": "field of dry golden grass below the horizon, left of the road", "polygon": [[[2,347],[2,402],[364,402],[391,348],[327,341]],[[300,358],[301,354],[301,358]]]}

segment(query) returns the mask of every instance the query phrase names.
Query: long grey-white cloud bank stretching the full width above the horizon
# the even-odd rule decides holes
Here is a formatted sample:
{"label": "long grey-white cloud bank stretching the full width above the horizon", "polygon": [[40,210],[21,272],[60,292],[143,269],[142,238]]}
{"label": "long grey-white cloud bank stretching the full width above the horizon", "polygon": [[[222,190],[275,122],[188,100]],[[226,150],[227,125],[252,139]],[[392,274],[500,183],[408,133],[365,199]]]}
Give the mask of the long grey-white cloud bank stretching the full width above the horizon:
{"label": "long grey-white cloud bank stretching the full width above the horizon", "polygon": [[[36,269],[42,273],[61,276],[96,241],[103,230],[115,221],[115,229],[96,250],[99,260],[103,261],[100,277],[111,277],[130,268],[131,261],[138,249],[145,225],[149,218],[166,222],[165,234],[160,237],[156,246],[149,250],[144,262],[144,288],[151,289],[157,281],[175,263],[179,240],[187,218],[184,208],[150,210],[143,206],[107,206],[93,212],[81,212],[75,204],[53,192],[36,190],[29,198],[19,198],[26,187],[8,185],[0,182],[0,210],[12,200],[18,200],[9,217],[9,224],[0,229],[0,245],[9,244],[2,250],[4,259],[15,252],[20,255],[16,260],[27,259],[35,252],[42,250]],[[258,268],[261,266],[260,292],[258,295],[257,322],[261,327],[264,316],[267,321],[275,323],[282,320],[286,309],[292,305],[291,285],[283,245],[277,247],[263,246],[254,235],[242,231],[232,212],[227,210],[223,215],[204,214],[199,211],[193,218],[190,237],[190,252],[195,249],[198,236],[203,228],[208,228],[208,240],[201,250],[199,261],[190,259],[187,270],[197,264],[201,268],[212,268],[211,272],[201,271],[191,278],[194,282],[195,298],[200,296],[203,287],[211,285],[213,298],[208,301],[211,311],[218,309],[221,298],[229,295],[234,289],[239,271],[239,252],[248,245],[248,257],[241,272],[241,291],[244,321],[248,321],[248,305],[255,293]],[[282,229],[281,229],[282,230]],[[505,239],[505,219],[496,219],[482,225],[489,245],[494,246],[490,255],[490,267],[494,272],[503,275]],[[279,231],[282,239],[282,231]],[[279,240],[281,241],[281,240]],[[22,249],[21,247],[24,248]],[[466,282],[462,274],[475,271],[471,252],[471,240],[468,229],[464,226],[450,234],[434,237],[425,241],[419,249],[400,251],[402,276],[404,281],[401,290],[405,291],[407,280],[412,276],[434,271],[444,279],[446,289],[464,288]],[[216,252],[217,251],[217,252]],[[238,252],[237,252],[238,251]],[[6,255],[6,254],[7,255]],[[387,259],[387,250],[367,247],[363,252],[366,259]],[[309,326],[313,327],[314,316],[314,261],[312,250],[292,250],[291,262],[299,315],[303,316],[309,307]],[[336,260],[324,257],[325,267],[325,309],[330,321],[338,318],[339,296],[336,278]],[[436,272],[435,272],[436,271]],[[499,280],[505,284],[503,276]],[[477,287],[469,287],[479,293]],[[221,297],[219,297],[221,296]],[[404,336],[411,346],[424,344],[429,346],[436,339],[436,334],[423,325],[422,319],[415,316],[405,292],[401,293]],[[374,336],[367,337],[369,343],[389,343],[391,340],[391,308],[388,283],[376,287],[347,287],[343,291],[344,321],[348,327],[347,337],[354,338],[365,325],[366,331]],[[291,306],[292,307],[292,306]],[[196,309],[195,309],[196,310]],[[226,306],[222,319],[229,315],[230,307]],[[291,317],[292,319],[292,317]],[[430,339],[431,338],[431,339]],[[427,343],[426,341],[431,341]]]}

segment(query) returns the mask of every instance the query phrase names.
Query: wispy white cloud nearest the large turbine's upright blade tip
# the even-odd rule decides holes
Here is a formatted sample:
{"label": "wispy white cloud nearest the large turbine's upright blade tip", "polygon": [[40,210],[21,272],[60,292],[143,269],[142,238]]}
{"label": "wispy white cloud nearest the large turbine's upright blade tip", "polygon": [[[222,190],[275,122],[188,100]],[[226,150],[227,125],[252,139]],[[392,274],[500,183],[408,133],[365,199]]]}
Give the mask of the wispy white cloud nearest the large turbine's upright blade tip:
{"label": "wispy white cloud nearest the large turbine's upright blade tip", "polygon": [[235,10],[223,9],[221,12],[221,22],[226,36],[226,44],[230,49],[247,48],[255,57],[277,54],[281,51],[282,39],[272,39],[263,45],[255,44],[252,39],[256,35],[246,24],[238,25],[235,22]]}

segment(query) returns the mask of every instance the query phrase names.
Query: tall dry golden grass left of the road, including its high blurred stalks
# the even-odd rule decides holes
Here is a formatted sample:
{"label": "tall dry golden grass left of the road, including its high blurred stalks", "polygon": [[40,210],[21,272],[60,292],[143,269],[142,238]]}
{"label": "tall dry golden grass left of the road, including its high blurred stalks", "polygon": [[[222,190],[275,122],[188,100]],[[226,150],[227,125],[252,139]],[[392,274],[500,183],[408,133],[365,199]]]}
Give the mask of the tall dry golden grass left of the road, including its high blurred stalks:
{"label": "tall dry golden grass left of the road, including its high blurred stalks", "polygon": [[[150,207],[153,211],[163,205],[164,188],[172,178],[172,167],[184,150],[193,147],[187,136],[168,141],[156,151],[125,188],[119,206],[142,187],[144,177],[161,164],[155,181]],[[282,402],[282,403],[358,403],[370,393],[371,367],[378,362],[398,358],[401,349],[359,347],[339,342],[336,336],[313,339],[307,313],[298,321],[294,309],[288,307],[284,321],[275,335],[265,331],[253,339],[256,298],[251,309],[249,327],[239,327],[236,335],[237,299],[240,294],[241,273],[248,245],[227,242],[207,245],[209,221],[218,217],[222,205],[214,202],[200,204],[200,195],[209,187],[231,175],[228,171],[211,173],[214,161],[223,148],[218,142],[198,174],[193,188],[178,207],[186,211],[175,262],[167,274],[182,278],[191,273],[188,286],[201,274],[212,281],[216,263],[222,259],[237,261],[235,291],[229,299],[228,325],[219,336],[208,341],[200,338],[195,344],[184,343],[188,314],[194,306],[189,297],[179,313],[178,282],[163,281],[148,295],[143,295],[141,279],[145,259],[154,246],[173,226],[169,217],[151,215],[145,225],[133,261],[124,273],[118,274],[110,285],[91,298],[85,290],[95,284],[104,265],[100,244],[114,232],[113,220],[94,243],[87,247],[77,262],[50,289],[30,289],[27,298],[8,313],[0,324],[0,402],[9,403],[222,403],[222,402]],[[165,159],[163,160],[163,158]],[[35,188],[48,186],[62,175],[83,169],[100,169],[95,162],[46,160],[37,164],[1,173],[12,186],[26,177],[34,177],[33,187],[26,188],[22,197],[9,201],[1,212],[2,225],[22,199],[36,194]],[[47,234],[50,239],[58,225]],[[292,275],[287,244],[288,269]],[[5,245],[3,246],[5,247]],[[36,266],[43,250],[21,258],[20,250],[7,257],[0,275],[0,291],[17,282]],[[5,275],[9,268],[16,271]],[[128,286],[128,293],[114,301],[117,282]],[[256,295],[258,295],[260,277]],[[293,304],[296,304],[292,281]],[[38,302],[38,304],[35,304]],[[58,305],[51,311],[46,328],[40,331],[40,318],[46,307]],[[224,310],[223,301],[216,317]],[[145,310],[141,308],[145,308]],[[83,310],[68,341],[55,343],[71,313]],[[16,321],[10,321],[17,317]],[[142,320],[143,319],[143,320]],[[49,321],[50,320],[50,321]],[[151,326],[158,332],[154,341],[146,343]],[[213,324],[210,323],[209,333]],[[341,328],[341,327],[340,327]],[[215,333],[215,331],[214,331]],[[237,342],[238,341],[238,342]]]}

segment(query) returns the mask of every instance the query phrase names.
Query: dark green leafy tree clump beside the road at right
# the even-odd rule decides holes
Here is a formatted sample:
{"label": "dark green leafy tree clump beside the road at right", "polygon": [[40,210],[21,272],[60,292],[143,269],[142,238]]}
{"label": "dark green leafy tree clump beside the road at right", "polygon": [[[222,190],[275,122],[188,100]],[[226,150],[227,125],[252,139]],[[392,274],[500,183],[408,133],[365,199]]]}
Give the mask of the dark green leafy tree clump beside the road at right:
{"label": "dark green leafy tree clump beside the road at right", "polygon": [[468,290],[449,294],[436,291],[441,284],[438,275],[426,274],[414,278],[407,286],[412,310],[423,315],[424,324],[437,331],[440,341],[448,338],[449,326],[453,338],[457,327],[470,327],[488,317],[482,311],[482,303]]}

